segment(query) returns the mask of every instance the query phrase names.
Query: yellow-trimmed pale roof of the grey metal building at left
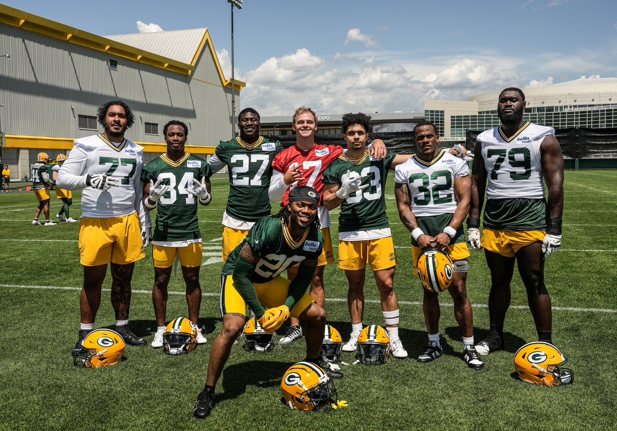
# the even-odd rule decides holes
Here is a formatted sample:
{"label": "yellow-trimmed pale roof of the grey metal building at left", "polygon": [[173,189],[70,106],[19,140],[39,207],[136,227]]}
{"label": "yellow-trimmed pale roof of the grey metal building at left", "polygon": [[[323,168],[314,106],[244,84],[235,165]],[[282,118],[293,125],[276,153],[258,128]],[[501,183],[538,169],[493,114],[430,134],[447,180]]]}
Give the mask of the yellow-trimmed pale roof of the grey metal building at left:
{"label": "yellow-trimmed pale roof of the grey metal building at left", "polygon": [[[190,76],[193,73],[197,60],[201,57],[202,52],[204,52],[207,46],[217,66],[221,84],[231,88],[231,80],[226,80],[225,75],[223,75],[223,70],[218,62],[217,52],[214,49],[207,28],[157,31],[154,33],[109,37],[97,36],[93,35],[93,33],[88,33],[88,31],[78,30],[77,28],[39,17],[38,15],[28,14],[28,12],[5,6],[4,4],[0,4],[0,23],[186,76]],[[170,48],[173,47],[173,44],[170,44],[170,41],[172,43],[173,41],[183,43],[183,46],[188,41],[188,46],[179,49],[178,54],[172,55],[172,49]],[[159,46],[160,43],[164,43],[165,46]],[[179,45],[176,44],[175,47],[178,49]],[[186,51],[188,48],[192,52]],[[246,87],[246,83],[242,81],[236,80],[235,84],[236,91]]]}

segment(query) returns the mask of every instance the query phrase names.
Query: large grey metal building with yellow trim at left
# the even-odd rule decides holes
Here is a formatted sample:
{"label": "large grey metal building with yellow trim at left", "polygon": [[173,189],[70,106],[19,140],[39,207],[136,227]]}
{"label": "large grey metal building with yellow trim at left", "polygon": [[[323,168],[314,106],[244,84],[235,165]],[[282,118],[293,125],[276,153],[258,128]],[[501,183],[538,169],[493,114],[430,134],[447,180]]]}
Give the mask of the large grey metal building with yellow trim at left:
{"label": "large grey metal building with yellow trim at left", "polygon": [[[235,81],[236,99],[245,85]],[[1,158],[14,179],[38,152],[55,158],[101,133],[97,107],[114,99],[135,113],[126,138],[146,162],[165,152],[172,119],[188,125],[189,152],[213,154],[231,139],[231,91],[207,28],[97,36],[0,4]]]}

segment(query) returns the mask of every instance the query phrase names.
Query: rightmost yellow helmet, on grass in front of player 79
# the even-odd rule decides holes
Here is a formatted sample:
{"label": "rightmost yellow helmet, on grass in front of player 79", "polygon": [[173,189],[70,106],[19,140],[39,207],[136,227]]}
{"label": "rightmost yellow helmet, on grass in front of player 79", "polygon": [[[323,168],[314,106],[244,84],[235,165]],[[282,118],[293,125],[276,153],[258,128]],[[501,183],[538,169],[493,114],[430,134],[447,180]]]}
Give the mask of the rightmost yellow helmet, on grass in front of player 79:
{"label": "rightmost yellow helmet, on grass in front of player 79", "polygon": [[514,355],[518,377],[534,385],[561,386],[574,382],[574,372],[561,367],[567,361],[557,347],[542,341],[527,343]]}

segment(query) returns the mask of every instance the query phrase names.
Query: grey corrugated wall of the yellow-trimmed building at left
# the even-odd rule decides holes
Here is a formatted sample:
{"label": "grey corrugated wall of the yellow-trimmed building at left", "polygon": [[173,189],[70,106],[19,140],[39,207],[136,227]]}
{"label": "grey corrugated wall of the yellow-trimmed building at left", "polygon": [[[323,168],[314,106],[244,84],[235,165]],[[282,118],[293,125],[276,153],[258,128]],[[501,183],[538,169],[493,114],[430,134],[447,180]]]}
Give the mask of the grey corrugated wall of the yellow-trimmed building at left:
{"label": "grey corrugated wall of the yellow-trimmed building at left", "polygon": [[[231,90],[223,88],[206,48],[197,79],[86,47],[0,24],[0,108],[6,134],[81,138],[78,115],[96,115],[99,105],[122,99],[135,113],[126,137],[164,142],[162,128],[176,119],[189,125],[189,143],[215,146],[231,136]],[[109,60],[118,70],[110,70]],[[236,94],[236,105],[239,97]],[[144,123],[158,123],[146,134]],[[98,133],[102,131],[98,126]]]}

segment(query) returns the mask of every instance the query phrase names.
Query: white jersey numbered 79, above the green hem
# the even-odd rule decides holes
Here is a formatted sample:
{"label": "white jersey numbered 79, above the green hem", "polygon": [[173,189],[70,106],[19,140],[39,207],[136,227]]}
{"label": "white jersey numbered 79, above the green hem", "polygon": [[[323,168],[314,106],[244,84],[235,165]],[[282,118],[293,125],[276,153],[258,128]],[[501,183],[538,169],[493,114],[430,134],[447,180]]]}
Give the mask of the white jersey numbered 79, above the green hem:
{"label": "white jersey numbered 79, above the green hem", "polygon": [[528,121],[510,138],[501,127],[478,135],[488,177],[487,199],[544,199],[540,144],[551,134],[555,129]]}

